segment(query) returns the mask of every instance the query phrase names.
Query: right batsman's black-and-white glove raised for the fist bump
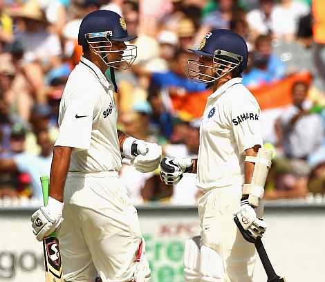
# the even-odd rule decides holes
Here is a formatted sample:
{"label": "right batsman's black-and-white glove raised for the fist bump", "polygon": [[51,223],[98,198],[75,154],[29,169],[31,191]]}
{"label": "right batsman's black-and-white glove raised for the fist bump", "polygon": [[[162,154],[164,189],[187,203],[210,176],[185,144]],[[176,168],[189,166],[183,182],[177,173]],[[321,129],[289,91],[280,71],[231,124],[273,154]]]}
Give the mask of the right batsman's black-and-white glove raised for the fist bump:
{"label": "right batsman's black-and-white glove raised for the fist bump", "polygon": [[163,158],[160,162],[160,178],[167,185],[176,185],[184,172],[192,169],[191,158]]}

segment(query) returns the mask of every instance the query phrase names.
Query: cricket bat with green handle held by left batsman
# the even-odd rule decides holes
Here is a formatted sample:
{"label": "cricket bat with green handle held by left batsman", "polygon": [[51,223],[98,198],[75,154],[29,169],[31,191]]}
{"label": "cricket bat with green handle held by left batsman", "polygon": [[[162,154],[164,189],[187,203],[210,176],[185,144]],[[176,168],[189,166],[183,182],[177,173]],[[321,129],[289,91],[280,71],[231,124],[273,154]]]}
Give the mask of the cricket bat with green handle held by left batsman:
{"label": "cricket bat with green handle held by left batsman", "polygon": [[[50,178],[41,176],[41,189],[43,191],[44,205],[48,203],[48,189]],[[45,282],[63,282],[62,261],[59,252],[59,241],[55,232],[43,240],[44,262],[45,262]]]}

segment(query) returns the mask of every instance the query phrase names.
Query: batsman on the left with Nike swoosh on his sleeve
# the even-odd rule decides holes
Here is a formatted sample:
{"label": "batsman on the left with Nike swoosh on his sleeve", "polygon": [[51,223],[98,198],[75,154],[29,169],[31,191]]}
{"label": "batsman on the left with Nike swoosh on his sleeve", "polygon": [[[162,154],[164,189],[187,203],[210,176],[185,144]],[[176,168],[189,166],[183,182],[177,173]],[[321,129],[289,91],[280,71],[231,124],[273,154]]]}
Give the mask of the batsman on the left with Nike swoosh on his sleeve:
{"label": "batsman on the left with Nike swoosh on his sleeve", "polygon": [[133,63],[134,38],[109,10],[86,15],[79,29],[84,55],[59,107],[48,205],[31,218],[37,240],[57,231],[66,282],[93,282],[97,273],[102,282],[150,279],[138,214],[118,171],[122,156],[138,171],[154,171],[161,147],[117,130],[113,82],[105,75]]}

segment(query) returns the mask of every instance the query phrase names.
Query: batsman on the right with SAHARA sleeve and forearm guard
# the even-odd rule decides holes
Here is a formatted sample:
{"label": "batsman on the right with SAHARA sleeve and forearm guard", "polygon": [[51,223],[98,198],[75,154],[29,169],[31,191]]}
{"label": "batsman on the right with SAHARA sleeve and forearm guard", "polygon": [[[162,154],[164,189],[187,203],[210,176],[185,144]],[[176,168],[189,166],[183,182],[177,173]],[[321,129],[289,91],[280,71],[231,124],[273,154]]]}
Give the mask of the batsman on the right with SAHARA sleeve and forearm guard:
{"label": "batsman on the right with SAHARA sleeve and forearm guard", "polygon": [[[197,173],[201,236],[185,243],[185,281],[252,282],[256,252],[236,225],[263,236],[257,216],[272,153],[262,149],[259,104],[241,83],[247,66],[244,39],[230,30],[208,32],[189,60],[187,74],[212,88],[200,127],[197,159],[163,158],[162,180],[174,185],[183,173]],[[260,207],[261,208],[261,207]]]}

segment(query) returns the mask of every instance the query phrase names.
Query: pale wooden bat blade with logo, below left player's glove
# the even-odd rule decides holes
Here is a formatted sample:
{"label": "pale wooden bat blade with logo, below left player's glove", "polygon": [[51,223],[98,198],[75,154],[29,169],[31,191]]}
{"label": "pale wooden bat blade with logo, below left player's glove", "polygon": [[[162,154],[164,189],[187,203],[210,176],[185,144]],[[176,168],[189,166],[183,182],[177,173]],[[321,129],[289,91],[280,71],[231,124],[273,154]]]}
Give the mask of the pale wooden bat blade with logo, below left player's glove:
{"label": "pale wooden bat blade with logo, below left player's glove", "polygon": [[50,236],[43,240],[45,281],[63,282],[62,261],[59,252],[59,241],[55,236]]}

